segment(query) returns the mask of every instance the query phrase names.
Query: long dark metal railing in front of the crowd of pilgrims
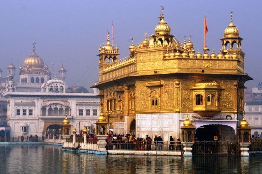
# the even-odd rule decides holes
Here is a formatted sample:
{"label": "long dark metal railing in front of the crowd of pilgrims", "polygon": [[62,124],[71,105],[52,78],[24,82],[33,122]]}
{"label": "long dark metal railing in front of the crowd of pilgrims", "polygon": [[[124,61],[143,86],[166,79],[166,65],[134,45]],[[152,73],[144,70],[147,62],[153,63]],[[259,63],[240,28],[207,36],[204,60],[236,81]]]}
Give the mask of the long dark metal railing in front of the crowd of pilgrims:
{"label": "long dark metal railing in front of the crowd of pilgrims", "polygon": [[109,141],[108,150],[135,150],[135,151],[181,151],[181,142],[151,142],[146,141]]}

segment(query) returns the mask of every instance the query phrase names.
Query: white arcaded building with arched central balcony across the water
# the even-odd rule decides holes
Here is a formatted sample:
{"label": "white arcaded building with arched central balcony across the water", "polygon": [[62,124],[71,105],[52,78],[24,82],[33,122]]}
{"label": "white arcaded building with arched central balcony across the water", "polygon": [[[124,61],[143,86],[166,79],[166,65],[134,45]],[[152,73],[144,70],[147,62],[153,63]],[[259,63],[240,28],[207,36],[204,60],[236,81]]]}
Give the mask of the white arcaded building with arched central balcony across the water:
{"label": "white arcaded building with arched central balcony across the water", "polygon": [[59,127],[66,114],[77,130],[79,124],[80,128],[87,126],[91,130],[99,115],[97,93],[65,93],[65,86],[65,82],[54,78],[42,84],[43,92],[4,93],[10,136],[41,136],[48,126],[50,131],[51,125]]}

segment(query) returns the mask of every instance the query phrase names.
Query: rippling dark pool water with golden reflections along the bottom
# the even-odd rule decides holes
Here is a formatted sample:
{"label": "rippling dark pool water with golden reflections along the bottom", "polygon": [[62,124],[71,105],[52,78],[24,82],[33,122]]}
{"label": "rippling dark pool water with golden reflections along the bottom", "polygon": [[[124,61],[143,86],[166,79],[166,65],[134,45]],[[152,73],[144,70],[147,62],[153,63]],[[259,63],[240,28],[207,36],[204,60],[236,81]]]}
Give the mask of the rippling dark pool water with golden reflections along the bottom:
{"label": "rippling dark pool water with golden reflections along the bottom", "polygon": [[261,156],[92,155],[60,146],[0,146],[1,173],[261,173]]}

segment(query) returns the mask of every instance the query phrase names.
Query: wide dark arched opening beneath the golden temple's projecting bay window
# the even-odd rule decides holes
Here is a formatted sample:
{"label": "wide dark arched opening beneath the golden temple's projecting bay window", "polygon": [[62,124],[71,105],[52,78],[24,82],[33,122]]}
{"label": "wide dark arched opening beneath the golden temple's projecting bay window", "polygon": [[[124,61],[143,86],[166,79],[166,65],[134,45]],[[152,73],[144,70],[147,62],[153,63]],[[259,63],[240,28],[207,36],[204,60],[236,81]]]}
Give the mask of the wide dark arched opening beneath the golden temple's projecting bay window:
{"label": "wide dark arched opening beneath the golden temple's projecting bay window", "polygon": [[218,141],[236,141],[236,132],[234,128],[222,124],[208,124],[199,126],[196,129],[196,138],[199,141],[214,141],[214,136]]}

